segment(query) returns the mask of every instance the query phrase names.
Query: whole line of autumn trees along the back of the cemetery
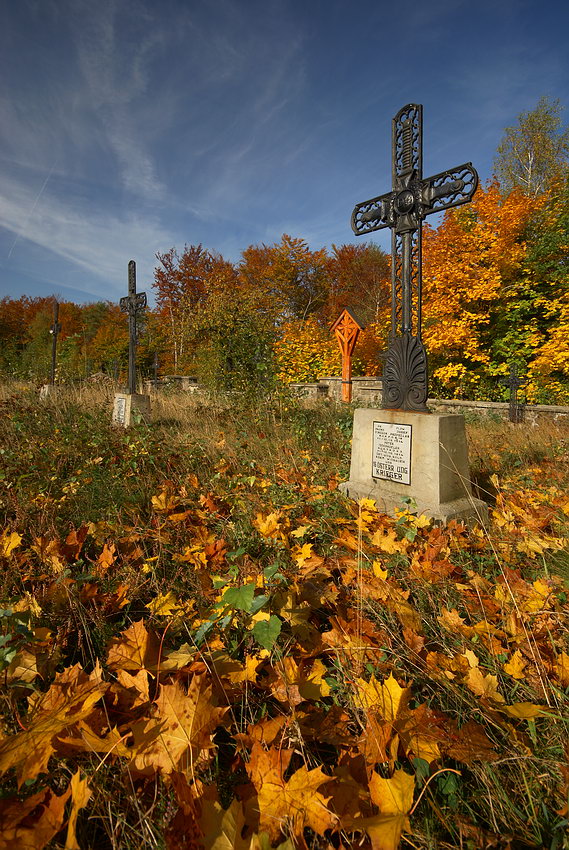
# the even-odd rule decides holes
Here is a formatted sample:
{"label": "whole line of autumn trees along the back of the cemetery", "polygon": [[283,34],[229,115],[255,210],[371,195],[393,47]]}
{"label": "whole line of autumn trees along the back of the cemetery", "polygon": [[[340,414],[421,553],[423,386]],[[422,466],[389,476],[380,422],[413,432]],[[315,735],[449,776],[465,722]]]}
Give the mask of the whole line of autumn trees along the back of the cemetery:
{"label": "whole line of autumn trees along the back of the cemetery", "polygon": [[[569,402],[569,131],[542,98],[506,128],[495,178],[424,225],[423,317],[433,392],[500,398],[516,362],[529,401]],[[231,263],[202,245],[156,255],[155,307],[139,367],[214,389],[266,390],[338,374],[329,328],[344,306],[367,324],[355,374],[378,374],[390,321],[390,258],[373,243],[312,250],[283,235]],[[43,381],[52,299],[0,301],[0,371]],[[111,302],[60,302],[59,380],[126,370],[126,317]]]}

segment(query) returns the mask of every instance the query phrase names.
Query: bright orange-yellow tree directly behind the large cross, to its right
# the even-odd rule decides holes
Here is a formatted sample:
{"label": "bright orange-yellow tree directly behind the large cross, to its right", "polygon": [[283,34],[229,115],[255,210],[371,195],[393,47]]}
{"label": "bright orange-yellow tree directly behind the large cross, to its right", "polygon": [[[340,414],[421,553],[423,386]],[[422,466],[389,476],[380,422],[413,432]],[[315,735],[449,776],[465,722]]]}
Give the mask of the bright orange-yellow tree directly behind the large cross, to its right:
{"label": "bright orange-yellow tree directly behind the large cross, to its right", "polygon": [[517,189],[504,197],[493,182],[467,209],[446,213],[438,229],[425,227],[424,340],[443,393],[479,397],[507,369],[493,361],[492,343],[523,286],[523,237],[536,204]]}

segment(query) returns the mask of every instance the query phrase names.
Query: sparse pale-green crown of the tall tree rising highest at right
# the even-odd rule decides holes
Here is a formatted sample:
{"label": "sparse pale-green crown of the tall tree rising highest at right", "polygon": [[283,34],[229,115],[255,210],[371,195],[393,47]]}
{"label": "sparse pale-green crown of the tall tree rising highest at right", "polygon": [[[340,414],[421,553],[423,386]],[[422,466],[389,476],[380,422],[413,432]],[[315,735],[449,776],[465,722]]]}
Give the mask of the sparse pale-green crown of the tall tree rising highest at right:
{"label": "sparse pale-green crown of the tall tree rising highest at right", "polygon": [[567,170],[569,128],[563,129],[559,100],[540,98],[506,127],[496,156],[496,174],[504,191],[519,187],[535,198]]}

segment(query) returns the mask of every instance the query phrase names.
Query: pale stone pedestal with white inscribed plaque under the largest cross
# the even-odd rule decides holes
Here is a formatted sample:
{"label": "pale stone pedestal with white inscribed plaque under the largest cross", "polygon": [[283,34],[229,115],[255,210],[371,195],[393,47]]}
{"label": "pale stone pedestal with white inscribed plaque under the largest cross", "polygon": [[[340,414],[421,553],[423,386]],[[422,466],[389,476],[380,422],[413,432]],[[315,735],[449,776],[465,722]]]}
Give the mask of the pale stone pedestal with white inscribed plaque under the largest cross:
{"label": "pale stone pedestal with white inscribed plaque under the largest cross", "polygon": [[388,514],[412,499],[419,514],[440,522],[485,522],[487,505],[472,496],[469,475],[464,417],[355,411],[350,479],[340,485],[350,498],[374,499]]}

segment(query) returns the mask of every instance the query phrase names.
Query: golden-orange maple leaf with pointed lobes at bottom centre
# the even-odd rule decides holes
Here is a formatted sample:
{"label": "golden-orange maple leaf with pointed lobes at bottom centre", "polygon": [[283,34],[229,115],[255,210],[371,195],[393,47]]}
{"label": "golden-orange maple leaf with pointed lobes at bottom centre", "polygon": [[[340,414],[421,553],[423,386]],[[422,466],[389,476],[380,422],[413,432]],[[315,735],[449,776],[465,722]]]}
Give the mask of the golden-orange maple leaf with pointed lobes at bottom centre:
{"label": "golden-orange maple leaf with pointed lobes at bottom centre", "polygon": [[259,829],[267,832],[271,841],[279,837],[287,823],[295,835],[302,835],[306,826],[323,835],[338,820],[327,808],[327,798],[318,793],[321,785],[330,782],[319,767],[308,770],[303,765],[288,782],[284,781],[291,755],[290,750],[263,751],[259,744],[251,752],[248,771],[257,791]]}

